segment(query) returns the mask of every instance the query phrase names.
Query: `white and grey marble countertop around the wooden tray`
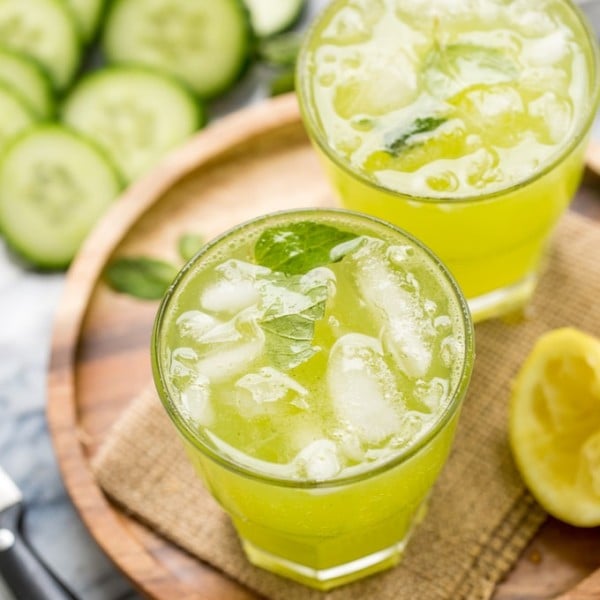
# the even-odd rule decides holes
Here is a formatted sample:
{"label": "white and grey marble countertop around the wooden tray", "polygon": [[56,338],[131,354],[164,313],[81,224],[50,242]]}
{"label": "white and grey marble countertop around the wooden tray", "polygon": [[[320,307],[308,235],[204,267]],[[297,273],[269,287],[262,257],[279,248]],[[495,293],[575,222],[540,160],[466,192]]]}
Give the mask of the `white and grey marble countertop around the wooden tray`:
{"label": "white and grey marble countertop around the wooden tray", "polygon": [[[327,0],[310,0],[304,22]],[[600,30],[600,3],[584,9]],[[252,69],[212,107],[215,117],[265,96],[265,74]],[[600,138],[600,127],[595,131]],[[45,418],[46,369],[64,274],[37,273],[0,240],[0,465],[23,491],[25,535],[68,586],[85,600],[140,598],[104,556],[63,487]],[[0,600],[10,599],[0,581]]]}

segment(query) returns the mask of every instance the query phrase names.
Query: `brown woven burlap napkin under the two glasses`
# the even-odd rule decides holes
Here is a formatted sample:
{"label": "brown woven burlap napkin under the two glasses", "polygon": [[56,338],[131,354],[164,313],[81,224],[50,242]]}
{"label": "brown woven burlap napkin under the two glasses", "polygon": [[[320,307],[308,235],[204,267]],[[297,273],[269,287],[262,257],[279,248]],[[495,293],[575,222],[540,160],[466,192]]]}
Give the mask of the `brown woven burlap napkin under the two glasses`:
{"label": "brown woven burlap napkin under the two glasses", "polygon": [[390,571],[322,594],[251,566],[151,390],[108,436],[94,464],[98,481],[150,527],[268,598],[489,598],[545,518],[507,444],[511,380],[544,331],[571,325],[600,335],[599,251],[600,227],[566,215],[527,318],[476,327],[475,370],[450,460],[403,562]]}

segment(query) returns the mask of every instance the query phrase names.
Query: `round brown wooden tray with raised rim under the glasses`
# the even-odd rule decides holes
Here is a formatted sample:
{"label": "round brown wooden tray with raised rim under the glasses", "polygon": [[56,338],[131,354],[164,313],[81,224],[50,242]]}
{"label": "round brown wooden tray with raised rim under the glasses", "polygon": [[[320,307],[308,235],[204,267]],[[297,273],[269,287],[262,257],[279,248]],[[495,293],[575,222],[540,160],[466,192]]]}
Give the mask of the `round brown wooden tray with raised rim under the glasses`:
{"label": "round brown wooden tray with raised rim under the glasses", "polygon": [[[129,518],[92,476],[90,461],[104,436],[150,379],[149,339],[157,308],[155,302],[110,291],[102,270],[115,253],[177,260],[176,240],[184,232],[210,238],[258,214],[333,202],[295,98],[282,97],[223,119],[130,188],[69,271],[52,345],[49,426],[83,521],[150,598],[257,596]],[[533,600],[568,590],[599,566],[599,538],[598,530],[549,520],[495,598]],[[591,578],[567,597],[600,598],[600,583]]]}

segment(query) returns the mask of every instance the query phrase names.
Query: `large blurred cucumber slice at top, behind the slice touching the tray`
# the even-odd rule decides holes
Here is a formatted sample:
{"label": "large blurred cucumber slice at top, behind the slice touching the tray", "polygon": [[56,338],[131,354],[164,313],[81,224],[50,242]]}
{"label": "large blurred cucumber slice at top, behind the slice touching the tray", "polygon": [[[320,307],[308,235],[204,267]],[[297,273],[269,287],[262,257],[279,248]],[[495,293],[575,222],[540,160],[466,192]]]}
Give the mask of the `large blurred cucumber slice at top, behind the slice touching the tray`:
{"label": "large blurred cucumber slice at top, behind the slice touching the tray", "polygon": [[116,0],[103,46],[110,61],[157,68],[211,98],[239,78],[251,39],[241,0]]}

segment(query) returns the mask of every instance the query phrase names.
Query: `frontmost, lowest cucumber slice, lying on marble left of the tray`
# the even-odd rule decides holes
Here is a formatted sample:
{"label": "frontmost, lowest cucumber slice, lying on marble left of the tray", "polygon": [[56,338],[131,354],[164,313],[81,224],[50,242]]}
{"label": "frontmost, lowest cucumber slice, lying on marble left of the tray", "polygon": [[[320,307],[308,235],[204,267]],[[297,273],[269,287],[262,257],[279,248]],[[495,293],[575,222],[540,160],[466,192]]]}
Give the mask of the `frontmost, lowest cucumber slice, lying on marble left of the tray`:
{"label": "frontmost, lowest cucumber slice, lying on marble left of the tray", "polygon": [[39,125],[17,138],[0,163],[0,228],[34,265],[62,268],[120,189],[90,142],[60,125]]}

